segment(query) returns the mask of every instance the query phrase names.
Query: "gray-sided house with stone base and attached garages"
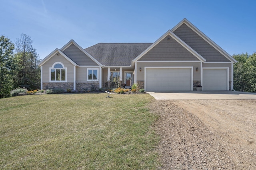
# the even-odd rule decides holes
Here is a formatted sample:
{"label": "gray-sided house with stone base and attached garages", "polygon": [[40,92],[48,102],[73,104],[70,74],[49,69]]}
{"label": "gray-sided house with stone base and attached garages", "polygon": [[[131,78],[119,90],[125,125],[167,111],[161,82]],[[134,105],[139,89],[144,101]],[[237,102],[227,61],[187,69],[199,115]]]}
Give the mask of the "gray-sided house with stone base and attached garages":
{"label": "gray-sided house with stone base and attached garages", "polygon": [[98,43],[86,49],[74,40],[38,65],[41,89],[126,87],[146,91],[232,90],[237,61],[188,20],[154,43]]}

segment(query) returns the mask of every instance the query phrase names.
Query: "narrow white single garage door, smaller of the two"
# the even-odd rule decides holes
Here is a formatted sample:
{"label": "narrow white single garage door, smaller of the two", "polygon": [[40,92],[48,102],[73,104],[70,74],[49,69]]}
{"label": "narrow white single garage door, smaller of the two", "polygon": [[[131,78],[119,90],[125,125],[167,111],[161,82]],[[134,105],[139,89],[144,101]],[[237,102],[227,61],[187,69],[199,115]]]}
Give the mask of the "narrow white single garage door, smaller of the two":
{"label": "narrow white single garage door, smaller of the two", "polygon": [[228,69],[203,69],[203,90],[228,90]]}

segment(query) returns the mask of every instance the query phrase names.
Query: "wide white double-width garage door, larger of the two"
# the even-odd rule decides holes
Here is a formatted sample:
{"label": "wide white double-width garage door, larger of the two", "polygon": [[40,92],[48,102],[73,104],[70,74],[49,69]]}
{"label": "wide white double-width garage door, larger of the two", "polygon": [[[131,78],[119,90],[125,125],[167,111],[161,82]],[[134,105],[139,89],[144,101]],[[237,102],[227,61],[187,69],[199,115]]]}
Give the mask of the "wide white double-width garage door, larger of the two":
{"label": "wide white double-width garage door, larger of the two", "polygon": [[191,90],[191,68],[146,68],[145,90]]}

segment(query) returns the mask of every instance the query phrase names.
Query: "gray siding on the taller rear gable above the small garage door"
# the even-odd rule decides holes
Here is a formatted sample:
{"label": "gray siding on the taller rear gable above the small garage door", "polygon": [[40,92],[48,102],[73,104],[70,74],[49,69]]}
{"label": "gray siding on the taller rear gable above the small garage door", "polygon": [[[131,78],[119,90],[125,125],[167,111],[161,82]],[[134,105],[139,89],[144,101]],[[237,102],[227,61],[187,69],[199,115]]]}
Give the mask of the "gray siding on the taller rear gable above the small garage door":
{"label": "gray siding on the taller rear gable above the small garage door", "polygon": [[183,23],[178,27],[174,33],[188,44],[192,49],[199,53],[206,62],[228,62],[229,60],[218,52],[212,45],[206,42],[196,32],[194,32],[188,25]]}

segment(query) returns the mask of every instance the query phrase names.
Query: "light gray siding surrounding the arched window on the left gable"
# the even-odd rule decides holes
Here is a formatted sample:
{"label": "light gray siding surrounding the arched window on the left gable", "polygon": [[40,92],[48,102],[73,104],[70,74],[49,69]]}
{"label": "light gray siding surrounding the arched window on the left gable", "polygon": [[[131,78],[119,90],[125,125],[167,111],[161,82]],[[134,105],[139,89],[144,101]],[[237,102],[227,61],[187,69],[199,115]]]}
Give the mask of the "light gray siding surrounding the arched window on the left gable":
{"label": "light gray siding surrounding the arched window on the left gable", "polygon": [[46,63],[43,64],[43,82],[50,82],[50,68],[56,62],[61,62],[62,64],[64,64],[64,67],[67,68],[67,82],[74,82],[74,65],[62,55],[54,55],[48,61],[46,61]]}

